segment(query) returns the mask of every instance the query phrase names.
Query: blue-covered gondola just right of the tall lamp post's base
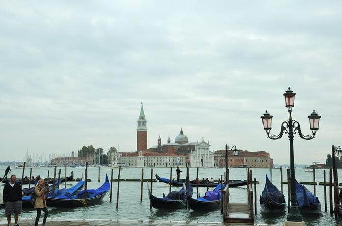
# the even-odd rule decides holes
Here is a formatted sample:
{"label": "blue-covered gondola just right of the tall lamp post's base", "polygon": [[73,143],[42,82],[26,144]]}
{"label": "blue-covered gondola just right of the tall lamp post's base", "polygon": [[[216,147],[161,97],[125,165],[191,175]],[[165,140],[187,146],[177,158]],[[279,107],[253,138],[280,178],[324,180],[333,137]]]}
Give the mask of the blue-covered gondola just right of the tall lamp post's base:
{"label": "blue-covered gondola just right of the tall lamp post's base", "polygon": [[302,214],[321,212],[321,203],[304,185],[296,181],[296,196],[298,209]]}

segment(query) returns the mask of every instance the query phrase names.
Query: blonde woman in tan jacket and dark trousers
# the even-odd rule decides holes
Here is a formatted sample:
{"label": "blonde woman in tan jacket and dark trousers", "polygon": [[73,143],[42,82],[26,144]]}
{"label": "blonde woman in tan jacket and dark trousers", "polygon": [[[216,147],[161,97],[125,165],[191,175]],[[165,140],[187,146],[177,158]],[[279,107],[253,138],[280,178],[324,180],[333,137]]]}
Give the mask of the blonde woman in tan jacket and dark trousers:
{"label": "blonde woman in tan jacket and dark trousers", "polygon": [[46,208],[45,186],[44,186],[43,179],[40,179],[38,181],[37,186],[35,186],[34,192],[36,194],[35,208],[37,210],[35,226],[38,226],[38,221],[39,221],[40,215],[42,214],[42,210],[44,211],[43,225],[45,225],[46,218],[47,218],[47,215],[49,214],[49,211]]}

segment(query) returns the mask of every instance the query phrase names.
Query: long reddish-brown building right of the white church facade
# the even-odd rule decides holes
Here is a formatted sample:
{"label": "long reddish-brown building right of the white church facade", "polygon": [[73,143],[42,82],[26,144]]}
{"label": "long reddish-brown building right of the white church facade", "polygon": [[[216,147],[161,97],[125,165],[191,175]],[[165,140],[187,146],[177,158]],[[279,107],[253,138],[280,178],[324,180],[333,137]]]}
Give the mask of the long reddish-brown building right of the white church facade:
{"label": "long reddish-brown building right of the white church facade", "polygon": [[[214,152],[215,167],[225,167],[226,150],[218,150]],[[238,156],[233,153],[228,154],[229,167],[253,167],[253,168],[272,168],[273,159],[270,154],[265,151],[240,151]]]}

